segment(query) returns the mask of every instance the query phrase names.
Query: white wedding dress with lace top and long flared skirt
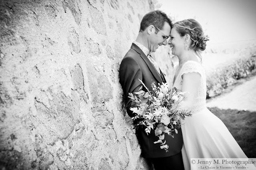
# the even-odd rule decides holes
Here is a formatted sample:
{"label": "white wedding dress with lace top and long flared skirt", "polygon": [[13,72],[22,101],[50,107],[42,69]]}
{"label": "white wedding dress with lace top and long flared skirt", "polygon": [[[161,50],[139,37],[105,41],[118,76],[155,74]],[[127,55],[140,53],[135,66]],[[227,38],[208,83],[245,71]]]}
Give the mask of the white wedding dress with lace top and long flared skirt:
{"label": "white wedding dress with lace top and long flared skirt", "polygon": [[247,158],[224,123],[206,107],[206,75],[200,63],[185,62],[173,87],[182,89],[181,76],[194,72],[201,75],[200,87],[194,92],[196,98],[191,106],[192,116],[185,117],[181,125],[185,170],[190,170],[190,158]]}

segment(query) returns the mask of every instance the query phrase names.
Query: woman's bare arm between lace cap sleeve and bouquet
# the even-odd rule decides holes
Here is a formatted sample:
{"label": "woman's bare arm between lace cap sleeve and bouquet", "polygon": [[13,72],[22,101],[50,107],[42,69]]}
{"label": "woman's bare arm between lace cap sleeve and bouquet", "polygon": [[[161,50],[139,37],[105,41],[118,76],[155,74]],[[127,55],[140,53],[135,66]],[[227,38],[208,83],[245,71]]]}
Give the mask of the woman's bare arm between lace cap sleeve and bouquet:
{"label": "woman's bare arm between lace cap sleeve and bouquet", "polygon": [[185,93],[185,100],[182,103],[182,106],[190,110],[196,98],[196,93],[200,85],[201,75],[197,72],[185,73],[182,75],[182,79],[183,82],[181,91],[188,92]]}

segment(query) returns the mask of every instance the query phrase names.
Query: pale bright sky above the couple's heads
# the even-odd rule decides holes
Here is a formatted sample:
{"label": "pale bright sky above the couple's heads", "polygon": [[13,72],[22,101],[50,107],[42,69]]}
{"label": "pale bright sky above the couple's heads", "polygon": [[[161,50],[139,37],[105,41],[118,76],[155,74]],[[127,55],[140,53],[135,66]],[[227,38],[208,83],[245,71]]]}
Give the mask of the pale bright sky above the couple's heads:
{"label": "pale bright sky above the couple's heads", "polygon": [[175,21],[196,19],[209,43],[256,40],[256,0],[157,0]]}

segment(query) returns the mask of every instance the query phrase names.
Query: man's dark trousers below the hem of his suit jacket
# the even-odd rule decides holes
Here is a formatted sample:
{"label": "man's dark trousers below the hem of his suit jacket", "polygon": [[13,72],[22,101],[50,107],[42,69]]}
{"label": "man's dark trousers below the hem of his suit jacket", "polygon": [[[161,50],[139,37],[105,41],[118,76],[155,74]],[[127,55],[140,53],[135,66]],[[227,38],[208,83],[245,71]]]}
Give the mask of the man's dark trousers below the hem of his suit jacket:
{"label": "man's dark trousers below the hem of his suit jacket", "polygon": [[184,170],[181,152],[163,158],[148,158],[155,170]]}

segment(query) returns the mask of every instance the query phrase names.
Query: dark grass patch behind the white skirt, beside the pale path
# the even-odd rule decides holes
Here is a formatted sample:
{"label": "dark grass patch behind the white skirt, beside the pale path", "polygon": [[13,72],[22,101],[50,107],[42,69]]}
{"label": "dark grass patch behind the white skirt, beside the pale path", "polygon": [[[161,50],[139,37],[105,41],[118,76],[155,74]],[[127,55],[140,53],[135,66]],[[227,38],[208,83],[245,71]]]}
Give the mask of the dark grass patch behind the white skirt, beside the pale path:
{"label": "dark grass patch behind the white skirt, beside the pale path", "polygon": [[208,108],[219,117],[248,158],[256,158],[256,112]]}

